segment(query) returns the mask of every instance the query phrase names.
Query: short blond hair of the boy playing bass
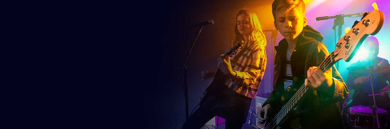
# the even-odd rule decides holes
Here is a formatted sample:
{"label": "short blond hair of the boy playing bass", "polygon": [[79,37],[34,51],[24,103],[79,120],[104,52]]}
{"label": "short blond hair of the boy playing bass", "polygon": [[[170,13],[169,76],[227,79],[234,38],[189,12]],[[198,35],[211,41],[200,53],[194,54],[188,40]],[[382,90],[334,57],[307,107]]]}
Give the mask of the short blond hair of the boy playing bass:
{"label": "short blond hair of the boy playing bass", "polygon": [[286,10],[285,14],[290,12],[291,9],[298,9],[303,16],[305,16],[305,2],[303,0],[275,0],[272,3],[273,19],[276,20],[277,11]]}

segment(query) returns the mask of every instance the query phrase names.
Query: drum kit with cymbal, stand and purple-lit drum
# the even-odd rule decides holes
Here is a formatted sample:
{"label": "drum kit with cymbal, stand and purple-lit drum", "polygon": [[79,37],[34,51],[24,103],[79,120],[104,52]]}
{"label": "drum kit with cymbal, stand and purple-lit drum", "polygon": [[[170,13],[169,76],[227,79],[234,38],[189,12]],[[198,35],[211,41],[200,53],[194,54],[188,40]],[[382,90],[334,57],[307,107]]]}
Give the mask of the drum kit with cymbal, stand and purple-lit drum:
{"label": "drum kit with cymbal, stand and purple-lit drum", "polygon": [[[347,127],[353,129],[386,129],[387,128],[387,111],[376,106],[374,87],[372,86],[372,80],[374,76],[372,73],[387,73],[390,72],[389,66],[380,65],[360,65],[351,66],[347,70],[370,73],[368,78],[371,81],[372,98],[374,99],[374,105],[372,106],[351,106],[348,108],[347,114]],[[388,91],[389,89],[385,90]]]}

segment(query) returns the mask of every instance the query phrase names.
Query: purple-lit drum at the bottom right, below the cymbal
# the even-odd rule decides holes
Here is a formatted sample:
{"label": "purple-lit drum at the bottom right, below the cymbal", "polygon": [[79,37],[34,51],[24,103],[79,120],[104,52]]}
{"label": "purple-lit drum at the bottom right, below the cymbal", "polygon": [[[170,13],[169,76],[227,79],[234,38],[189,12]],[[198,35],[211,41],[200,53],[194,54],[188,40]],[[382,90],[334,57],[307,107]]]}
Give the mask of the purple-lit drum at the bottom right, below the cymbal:
{"label": "purple-lit drum at the bottom right, below the cymbal", "polygon": [[[379,125],[381,129],[387,127],[387,111],[382,108],[377,108]],[[372,125],[376,124],[376,117],[372,114],[372,108],[370,106],[351,106],[348,108],[347,114],[347,128],[352,129],[372,129]],[[378,126],[375,126],[378,128]]]}

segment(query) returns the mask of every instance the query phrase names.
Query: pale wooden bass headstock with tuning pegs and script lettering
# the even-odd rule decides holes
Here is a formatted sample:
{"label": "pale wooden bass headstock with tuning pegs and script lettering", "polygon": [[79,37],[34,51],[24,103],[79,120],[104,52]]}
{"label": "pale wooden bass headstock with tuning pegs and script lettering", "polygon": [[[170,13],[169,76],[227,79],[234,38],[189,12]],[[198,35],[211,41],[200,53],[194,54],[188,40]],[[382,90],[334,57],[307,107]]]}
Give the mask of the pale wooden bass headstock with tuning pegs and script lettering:
{"label": "pale wooden bass headstock with tuning pegs and script lettering", "polygon": [[365,13],[360,21],[355,21],[351,30],[339,39],[335,51],[330,53],[332,62],[335,63],[341,59],[350,61],[365,38],[381,30],[384,19],[383,12],[372,10],[368,14]]}

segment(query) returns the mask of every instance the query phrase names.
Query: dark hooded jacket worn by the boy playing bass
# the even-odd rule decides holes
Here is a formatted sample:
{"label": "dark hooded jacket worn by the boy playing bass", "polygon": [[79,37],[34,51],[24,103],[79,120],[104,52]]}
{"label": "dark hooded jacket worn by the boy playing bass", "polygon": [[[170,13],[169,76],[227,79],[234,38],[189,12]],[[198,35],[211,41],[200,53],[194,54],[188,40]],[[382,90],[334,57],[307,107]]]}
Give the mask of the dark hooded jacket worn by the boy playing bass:
{"label": "dark hooded jacket worn by the boy playing bass", "polygon": [[[280,76],[280,71],[284,70],[284,67],[281,67],[284,60],[281,59],[286,57],[287,40],[284,38],[278,46],[275,46],[277,53],[274,63],[274,90],[263,105],[271,104],[273,113],[278,113],[305,83],[308,68],[319,66],[324,61],[325,55],[329,54],[326,46],[322,43],[323,36],[311,26],[305,26],[297,38],[295,50],[291,54],[293,84],[287,90],[284,90],[283,78]],[[341,109],[336,103],[345,99],[348,89],[334,66],[332,67],[332,77],[333,84],[328,91],[310,90],[298,102],[303,129],[344,128],[341,120]],[[271,118],[273,117],[271,116]]]}

